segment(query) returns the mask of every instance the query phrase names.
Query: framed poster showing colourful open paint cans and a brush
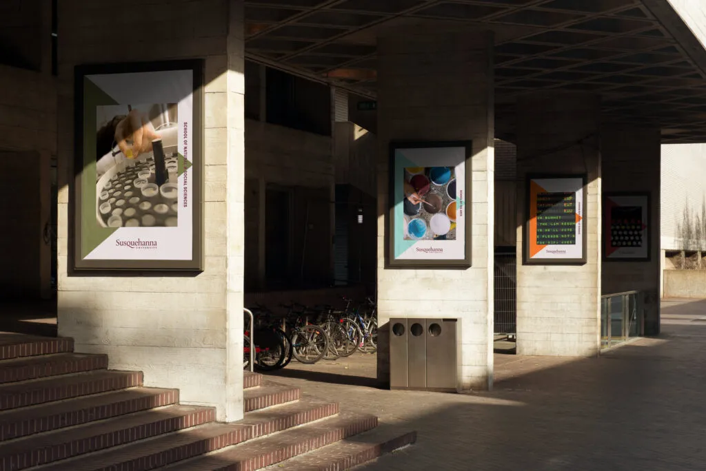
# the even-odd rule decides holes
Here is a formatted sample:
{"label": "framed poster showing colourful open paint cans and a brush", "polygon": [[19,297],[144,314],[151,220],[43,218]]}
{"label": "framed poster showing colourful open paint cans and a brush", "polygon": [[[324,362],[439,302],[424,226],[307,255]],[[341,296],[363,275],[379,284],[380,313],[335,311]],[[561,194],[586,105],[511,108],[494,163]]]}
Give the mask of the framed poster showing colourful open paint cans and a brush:
{"label": "framed poster showing colourful open paint cans and a brush", "polygon": [[471,266],[471,142],[390,145],[390,266]]}

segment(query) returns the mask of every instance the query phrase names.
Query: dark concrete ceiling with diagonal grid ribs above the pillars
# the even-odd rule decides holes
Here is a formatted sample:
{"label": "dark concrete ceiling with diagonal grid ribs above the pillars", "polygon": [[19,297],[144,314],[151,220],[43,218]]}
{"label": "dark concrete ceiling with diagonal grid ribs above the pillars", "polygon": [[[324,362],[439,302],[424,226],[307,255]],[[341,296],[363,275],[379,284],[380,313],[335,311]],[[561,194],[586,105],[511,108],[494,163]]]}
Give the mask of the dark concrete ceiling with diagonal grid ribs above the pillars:
{"label": "dark concrete ceiling with diagonal grid ribs above the pillars", "polygon": [[[666,0],[251,0],[246,55],[374,97],[384,28],[467,23],[496,32],[496,128],[518,96],[602,95],[609,121],[706,142],[706,51]],[[678,38],[678,39],[677,39]]]}

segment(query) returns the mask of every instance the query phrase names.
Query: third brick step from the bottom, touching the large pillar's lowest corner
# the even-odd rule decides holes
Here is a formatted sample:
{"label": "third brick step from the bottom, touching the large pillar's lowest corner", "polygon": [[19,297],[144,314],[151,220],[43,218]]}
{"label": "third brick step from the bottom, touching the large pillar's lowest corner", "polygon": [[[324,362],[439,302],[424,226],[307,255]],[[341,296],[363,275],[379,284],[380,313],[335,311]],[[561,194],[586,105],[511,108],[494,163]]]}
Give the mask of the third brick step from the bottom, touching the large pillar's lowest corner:
{"label": "third brick step from the bottom, touching the large pillar's lowest corner", "polygon": [[332,412],[337,412],[336,404],[301,400],[273,410],[250,412],[245,420],[232,424],[205,424],[35,469],[37,471],[147,471],[217,451],[226,446],[240,444],[264,434],[279,432],[287,427],[325,418]]}

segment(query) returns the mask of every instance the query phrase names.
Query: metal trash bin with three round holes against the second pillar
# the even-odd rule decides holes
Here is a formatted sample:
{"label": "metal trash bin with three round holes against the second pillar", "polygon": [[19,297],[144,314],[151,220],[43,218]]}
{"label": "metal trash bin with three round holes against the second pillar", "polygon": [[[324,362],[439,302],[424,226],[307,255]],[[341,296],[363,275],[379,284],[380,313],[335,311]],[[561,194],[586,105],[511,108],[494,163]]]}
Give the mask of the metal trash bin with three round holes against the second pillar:
{"label": "metal trash bin with three round holes against the second pillar", "polygon": [[390,319],[390,389],[457,391],[460,319]]}

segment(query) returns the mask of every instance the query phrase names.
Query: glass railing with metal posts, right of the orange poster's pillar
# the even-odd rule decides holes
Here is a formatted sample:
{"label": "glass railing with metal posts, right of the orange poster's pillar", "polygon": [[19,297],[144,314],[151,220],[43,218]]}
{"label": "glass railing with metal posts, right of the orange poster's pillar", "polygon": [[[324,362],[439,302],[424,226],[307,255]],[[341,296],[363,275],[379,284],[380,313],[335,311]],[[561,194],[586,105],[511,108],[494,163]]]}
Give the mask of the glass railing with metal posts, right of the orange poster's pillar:
{"label": "glass railing with metal posts, right of the orange poster's pillar", "polygon": [[642,333],[642,293],[626,291],[601,297],[601,346],[617,345]]}

